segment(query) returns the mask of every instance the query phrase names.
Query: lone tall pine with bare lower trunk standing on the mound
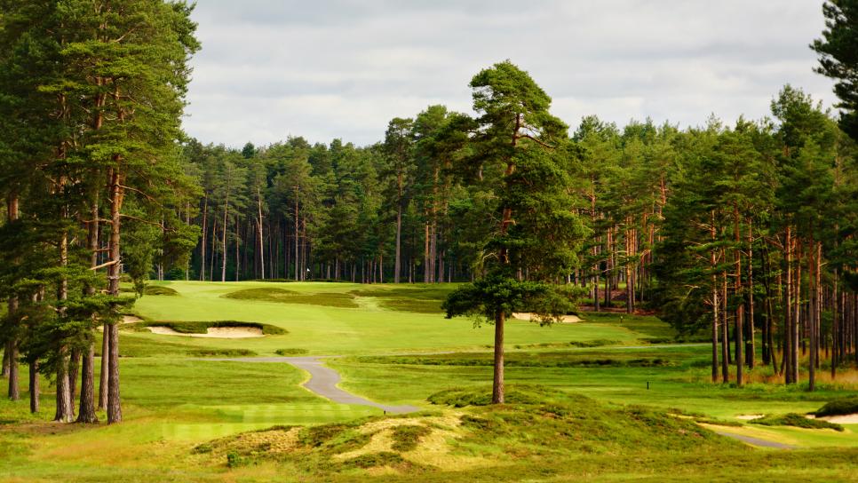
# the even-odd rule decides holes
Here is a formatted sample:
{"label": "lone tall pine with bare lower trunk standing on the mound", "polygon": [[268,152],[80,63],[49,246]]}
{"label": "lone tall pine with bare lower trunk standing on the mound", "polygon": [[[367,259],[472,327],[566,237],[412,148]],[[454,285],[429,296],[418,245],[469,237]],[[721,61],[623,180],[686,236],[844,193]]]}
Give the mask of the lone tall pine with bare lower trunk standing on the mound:
{"label": "lone tall pine with bare lower trunk standing on the mound", "polygon": [[[504,321],[525,306],[550,322],[570,307],[552,282],[571,270],[586,229],[570,211],[567,126],[548,109],[551,98],[505,61],[471,81],[480,129],[474,155],[497,196],[496,231],[485,245],[486,277],[454,291],[448,317],[473,314],[495,324],[492,402],[504,402]],[[532,281],[524,281],[527,272]]]}

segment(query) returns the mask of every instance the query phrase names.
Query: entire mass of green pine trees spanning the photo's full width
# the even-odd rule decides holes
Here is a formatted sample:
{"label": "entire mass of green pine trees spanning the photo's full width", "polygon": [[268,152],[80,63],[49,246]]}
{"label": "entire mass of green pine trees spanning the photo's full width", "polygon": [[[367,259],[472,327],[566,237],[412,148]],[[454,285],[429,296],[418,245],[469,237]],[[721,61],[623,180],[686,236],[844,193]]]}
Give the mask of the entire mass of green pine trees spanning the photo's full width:
{"label": "entire mass of green pine trees spanning the photo's full width", "polygon": [[[814,48],[838,77],[830,9]],[[562,293],[594,312],[653,311],[705,335],[713,381],[765,364],[813,389],[823,366],[858,362],[858,136],[796,87],[773,93],[766,119],[588,116],[569,130],[505,61],[474,77],[476,117],[430,106],[372,146],[237,149],[180,131],[199,48],[187,4],[3,12],[4,370],[12,399],[10,360],[55,377],[60,421],[79,371],[80,420],[98,403],[122,418],[123,276],[139,295],[150,277],[468,282],[500,260],[515,281],[578,288]]]}

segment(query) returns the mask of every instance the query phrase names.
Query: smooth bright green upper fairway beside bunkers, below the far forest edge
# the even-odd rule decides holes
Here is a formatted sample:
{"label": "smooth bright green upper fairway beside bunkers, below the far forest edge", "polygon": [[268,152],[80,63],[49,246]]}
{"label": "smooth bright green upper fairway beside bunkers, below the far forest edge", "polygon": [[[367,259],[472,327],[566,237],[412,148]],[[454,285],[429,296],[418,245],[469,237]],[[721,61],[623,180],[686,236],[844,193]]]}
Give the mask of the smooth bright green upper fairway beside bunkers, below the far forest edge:
{"label": "smooth bright green upper fairway beside bunkers, below the far forest edge", "polygon": [[[352,283],[205,283],[171,282],[168,285],[179,291],[179,297],[143,297],[135,305],[135,312],[152,321],[247,321],[272,324],[289,331],[285,336],[258,339],[179,339],[176,337],[135,334],[153,344],[185,344],[188,347],[219,349],[242,348],[260,355],[274,355],[278,349],[300,348],[310,354],[372,354],[385,352],[437,352],[449,350],[485,349],[492,343],[492,328],[474,329],[473,322],[465,319],[446,320],[440,309],[436,313],[389,310],[381,305],[390,298],[353,295],[361,294],[365,286]],[[300,303],[280,303],[255,298],[230,298],[226,295],[247,289],[288,289],[305,294]],[[373,296],[381,291],[369,292]],[[413,289],[396,289],[398,299],[402,292],[414,290],[423,297],[425,290],[417,285]],[[440,298],[445,290],[435,290]],[[339,299],[347,295],[358,305],[355,308],[315,305],[330,303],[330,297]],[[326,297],[327,296],[327,297]],[[396,298],[394,298],[395,300]],[[608,339],[633,341],[637,334],[619,325],[558,324],[541,328],[527,321],[510,321],[506,340],[513,344],[568,344],[570,341]]]}

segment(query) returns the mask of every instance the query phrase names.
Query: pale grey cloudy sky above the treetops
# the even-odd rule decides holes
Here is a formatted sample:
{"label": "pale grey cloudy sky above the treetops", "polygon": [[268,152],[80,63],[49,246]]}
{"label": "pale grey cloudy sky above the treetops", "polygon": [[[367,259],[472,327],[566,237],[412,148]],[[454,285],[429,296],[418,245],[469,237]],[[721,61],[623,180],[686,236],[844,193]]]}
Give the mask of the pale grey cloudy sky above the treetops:
{"label": "pale grey cloudy sky above the treetops", "polygon": [[511,59],[574,127],[647,116],[699,125],[768,114],[791,83],[835,99],[807,48],[822,0],[197,0],[185,127],[208,143],[288,136],[358,145]]}

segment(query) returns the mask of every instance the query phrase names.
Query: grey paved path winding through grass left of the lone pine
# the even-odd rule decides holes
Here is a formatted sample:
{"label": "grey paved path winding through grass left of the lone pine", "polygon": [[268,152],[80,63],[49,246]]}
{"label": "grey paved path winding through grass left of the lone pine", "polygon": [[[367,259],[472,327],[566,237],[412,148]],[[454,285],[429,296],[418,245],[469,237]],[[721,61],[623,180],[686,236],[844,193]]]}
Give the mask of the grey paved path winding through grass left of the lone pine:
{"label": "grey paved path winding through grass left of the lone pine", "polygon": [[389,406],[386,404],[380,404],[375,401],[368,400],[366,398],[361,398],[361,396],[357,396],[352,394],[351,392],[346,392],[340,389],[337,384],[342,380],[342,377],[339,376],[339,373],[332,369],[326,368],[322,364],[322,359],[330,359],[333,356],[321,356],[321,357],[246,357],[246,358],[238,358],[238,359],[224,359],[224,360],[238,360],[242,362],[285,362],[299,369],[306,370],[310,373],[310,379],[306,381],[303,385],[308,391],[314,392],[323,398],[332,400],[334,402],[338,402],[341,404],[357,404],[360,406],[371,406],[373,408],[379,408],[387,413],[393,414],[402,414],[402,413],[413,413],[415,411],[419,411],[420,408],[416,406]]}

